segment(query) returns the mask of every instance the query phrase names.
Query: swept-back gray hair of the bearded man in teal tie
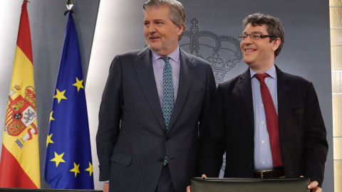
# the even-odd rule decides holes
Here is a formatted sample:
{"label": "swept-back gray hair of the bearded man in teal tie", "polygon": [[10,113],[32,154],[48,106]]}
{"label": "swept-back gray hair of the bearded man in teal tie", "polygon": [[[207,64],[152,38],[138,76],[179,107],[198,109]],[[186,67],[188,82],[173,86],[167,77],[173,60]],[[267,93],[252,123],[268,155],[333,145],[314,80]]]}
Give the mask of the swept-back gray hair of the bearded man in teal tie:
{"label": "swept-back gray hair of the bearded man in teal tie", "polygon": [[180,3],[180,1],[176,0],[148,0],[142,8],[144,9],[144,13],[146,9],[156,8],[160,6],[168,6],[170,8],[170,19],[172,23],[176,26],[184,26],[182,34],[178,37],[178,41],[182,39],[182,36],[185,31],[185,9]]}

